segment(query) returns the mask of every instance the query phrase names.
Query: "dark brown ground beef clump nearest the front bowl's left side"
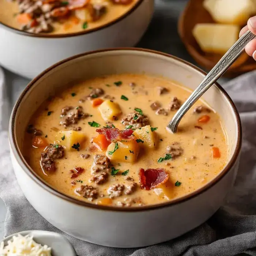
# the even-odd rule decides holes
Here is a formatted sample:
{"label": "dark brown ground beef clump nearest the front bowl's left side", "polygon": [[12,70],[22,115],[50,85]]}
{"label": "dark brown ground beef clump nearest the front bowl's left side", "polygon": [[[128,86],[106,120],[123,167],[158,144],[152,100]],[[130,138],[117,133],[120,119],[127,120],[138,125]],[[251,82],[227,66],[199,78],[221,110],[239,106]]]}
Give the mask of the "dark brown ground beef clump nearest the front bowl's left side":
{"label": "dark brown ground beef clump nearest the front bowl's left side", "polygon": [[64,157],[64,147],[58,144],[49,145],[41,153],[41,166],[45,171],[54,172],[56,170],[55,159]]}

